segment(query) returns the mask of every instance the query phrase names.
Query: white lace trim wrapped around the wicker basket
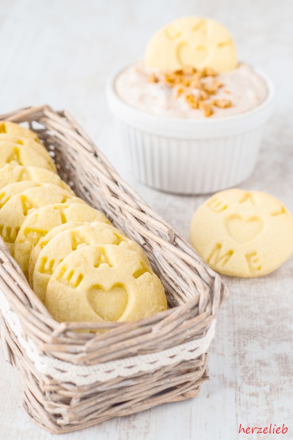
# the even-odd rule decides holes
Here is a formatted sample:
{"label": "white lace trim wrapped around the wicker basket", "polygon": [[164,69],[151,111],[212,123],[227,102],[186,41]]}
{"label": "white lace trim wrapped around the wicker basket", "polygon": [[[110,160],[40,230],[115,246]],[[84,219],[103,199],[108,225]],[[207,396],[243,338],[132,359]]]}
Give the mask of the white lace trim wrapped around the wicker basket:
{"label": "white lace trim wrapped around the wicker basket", "polygon": [[29,337],[23,336],[20,320],[11,310],[1,290],[0,310],[10,330],[18,338],[21,347],[35,364],[39,374],[49,375],[61,382],[72,382],[78,386],[89,385],[96,381],[106,382],[119,376],[129,377],[140,372],[151,372],[167,365],[197,359],[207,352],[215,332],[215,320],[213,320],[204,337],[161,352],[140,354],[96,365],[74,365],[43,354]]}

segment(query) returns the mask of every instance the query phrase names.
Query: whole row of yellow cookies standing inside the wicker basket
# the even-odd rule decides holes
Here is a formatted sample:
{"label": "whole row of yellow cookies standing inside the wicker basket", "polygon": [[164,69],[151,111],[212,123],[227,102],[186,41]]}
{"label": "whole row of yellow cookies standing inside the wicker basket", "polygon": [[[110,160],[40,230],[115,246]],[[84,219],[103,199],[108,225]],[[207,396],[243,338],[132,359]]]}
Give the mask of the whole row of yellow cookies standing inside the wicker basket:
{"label": "whole row of yellow cookies standing inside the wicker basket", "polygon": [[63,321],[132,321],[167,308],[145,252],[56,174],[36,133],[0,122],[0,235]]}

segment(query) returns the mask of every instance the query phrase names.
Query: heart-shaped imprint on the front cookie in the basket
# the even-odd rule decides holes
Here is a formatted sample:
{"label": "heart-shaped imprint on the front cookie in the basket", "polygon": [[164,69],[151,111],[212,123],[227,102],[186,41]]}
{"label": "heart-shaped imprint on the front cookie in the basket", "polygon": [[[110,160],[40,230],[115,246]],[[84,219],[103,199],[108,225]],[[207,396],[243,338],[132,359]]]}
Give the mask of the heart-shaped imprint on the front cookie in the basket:
{"label": "heart-shaped imprint on the front cookie in the basket", "polygon": [[128,295],[125,286],[117,283],[106,290],[96,284],[85,294],[88,304],[105,321],[117,321],[126,309]]}

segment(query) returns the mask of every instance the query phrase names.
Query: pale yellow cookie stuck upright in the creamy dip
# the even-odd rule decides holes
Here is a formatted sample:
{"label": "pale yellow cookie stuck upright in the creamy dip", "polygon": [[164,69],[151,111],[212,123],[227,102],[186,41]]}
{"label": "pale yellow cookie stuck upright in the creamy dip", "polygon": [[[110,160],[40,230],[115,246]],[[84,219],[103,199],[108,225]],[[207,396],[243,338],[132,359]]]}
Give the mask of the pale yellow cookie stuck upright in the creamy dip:
{"label": "pale yellow cookie stuck upright in the creamy dip", "polygon": [[221,23],[201,17],[183,17],[158,30],[146,46],[147,67],[197,69],[212,67],[227,72],[237,66],[236,48]]}

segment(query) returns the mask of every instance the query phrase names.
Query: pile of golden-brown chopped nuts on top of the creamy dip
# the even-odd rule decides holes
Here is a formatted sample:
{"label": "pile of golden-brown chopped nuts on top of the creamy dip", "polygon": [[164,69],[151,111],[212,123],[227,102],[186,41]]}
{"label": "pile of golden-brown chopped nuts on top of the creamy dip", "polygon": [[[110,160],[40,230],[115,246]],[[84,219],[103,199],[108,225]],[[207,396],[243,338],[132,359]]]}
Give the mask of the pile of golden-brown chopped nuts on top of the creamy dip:
{"label": "pile of golden-brown chopped nuts on top of the creamy dip", "polygon": [[[200,109],[206,117],[213,114],[213,106],[227,109],[232,106],[229,99],[213,99],[224,84],[217,80],[217,72],[210,67],[195,69],[192,66],[183,66],[174,71],[162,71],[157,75],[151,73],[147,78],[149,83],[163,83],[168,88],[174,89],[174,97],[184,95],[185,101],[191,109]],[[224,90],[230,93],[229,90]]]}

